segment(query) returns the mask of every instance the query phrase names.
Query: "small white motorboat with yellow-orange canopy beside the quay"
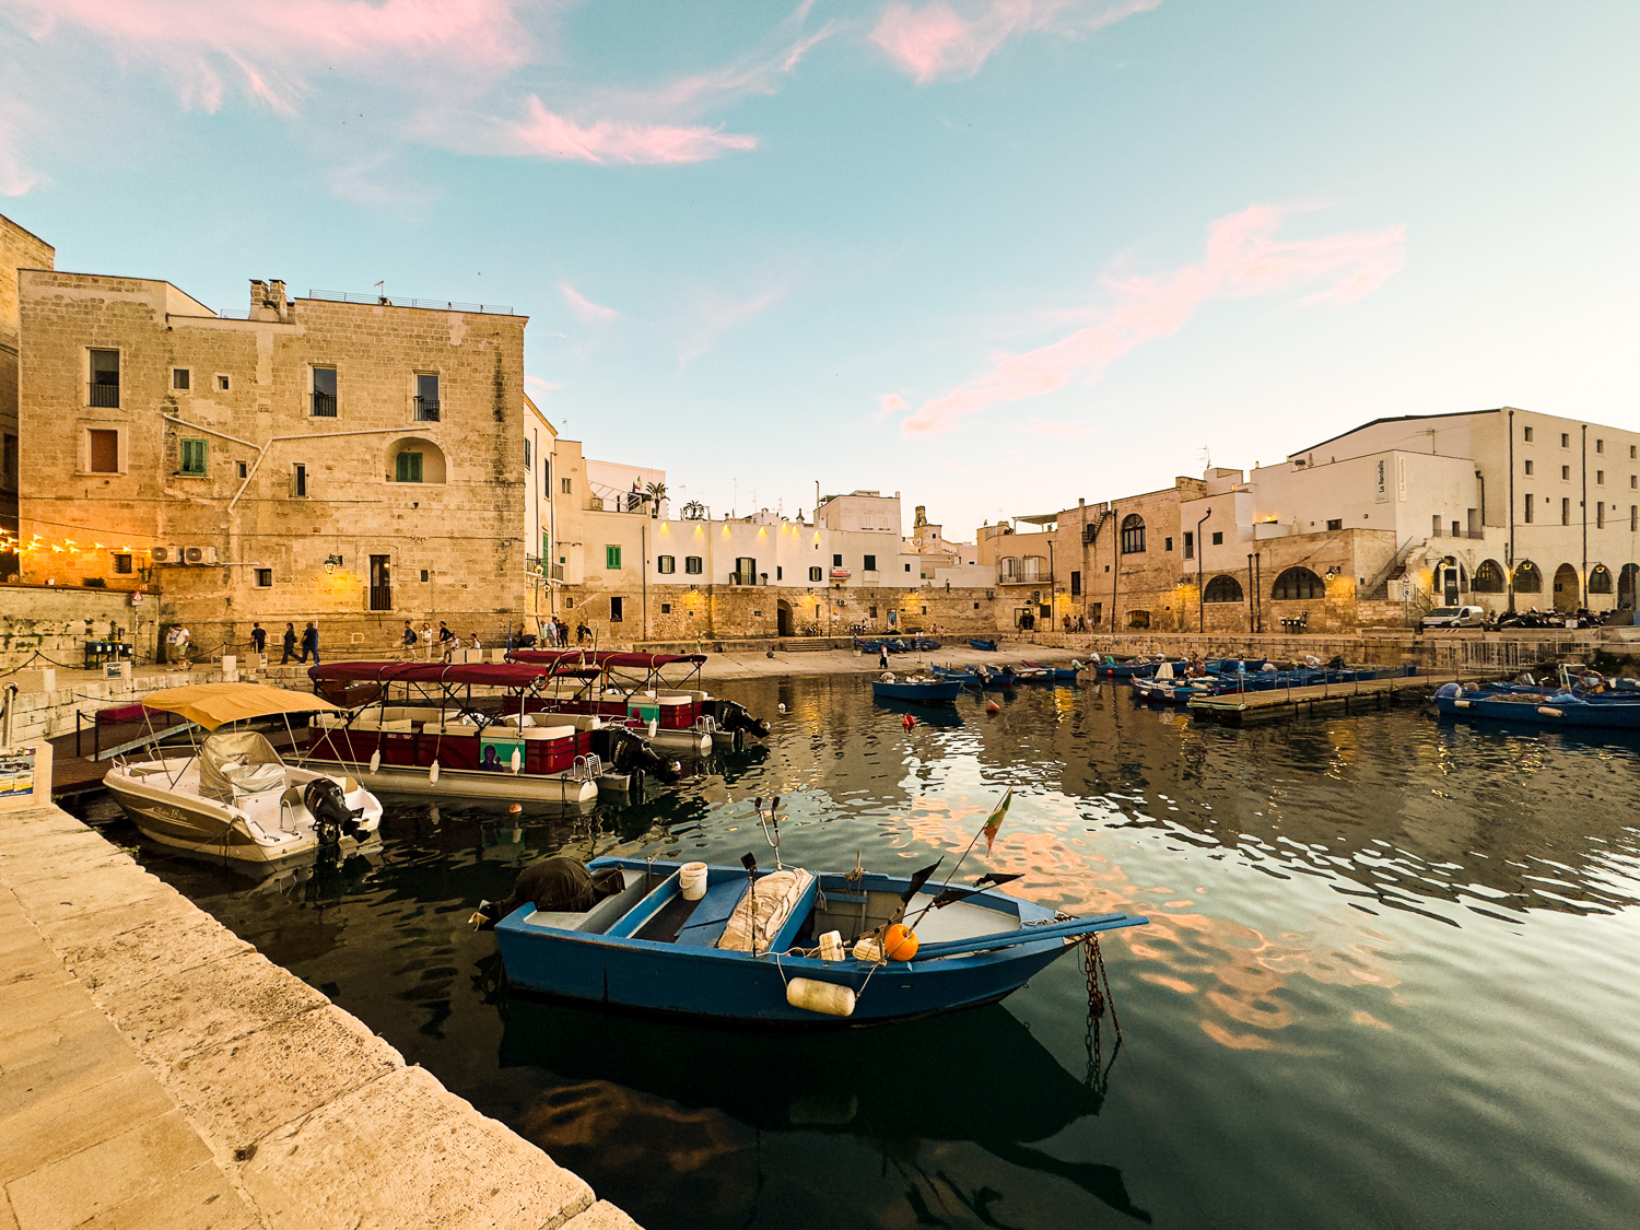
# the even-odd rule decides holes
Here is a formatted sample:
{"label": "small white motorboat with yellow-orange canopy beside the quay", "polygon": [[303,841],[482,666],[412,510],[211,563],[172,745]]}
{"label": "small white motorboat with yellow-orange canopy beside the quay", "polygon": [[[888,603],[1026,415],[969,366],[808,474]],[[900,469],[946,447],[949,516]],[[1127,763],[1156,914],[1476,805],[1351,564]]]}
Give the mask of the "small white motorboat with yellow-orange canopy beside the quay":
{"label": "small white motorboat with yellow-orange canopy beside the quay", "polygon": [[335,708],[328,700],[262,684],[197,684],[151,692],[143,704],[213,731],[184,756],[121,758],[103,777],[153,841],[266,868],[320,848],[359,846],[380,827],[380,802],[354,777],[287,764],[254,730],[218,730]]}

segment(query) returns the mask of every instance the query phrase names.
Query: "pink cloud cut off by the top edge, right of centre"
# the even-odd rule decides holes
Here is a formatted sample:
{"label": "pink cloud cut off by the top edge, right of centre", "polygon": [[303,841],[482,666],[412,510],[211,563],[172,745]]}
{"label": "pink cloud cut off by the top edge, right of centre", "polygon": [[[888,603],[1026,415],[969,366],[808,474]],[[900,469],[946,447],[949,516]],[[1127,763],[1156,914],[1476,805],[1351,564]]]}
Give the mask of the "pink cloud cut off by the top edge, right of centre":
{"label": "pink cloud cut off by the top edge, right of centre", "polygon": [[927,85],[938,77],[973,77],[1015,34],[1051,31],[1074,38],[1159,3],[1161,0],[969,0],[958,13],[943,0],[920,8],[895,2],[882,10],[871,41],[918,85]]}

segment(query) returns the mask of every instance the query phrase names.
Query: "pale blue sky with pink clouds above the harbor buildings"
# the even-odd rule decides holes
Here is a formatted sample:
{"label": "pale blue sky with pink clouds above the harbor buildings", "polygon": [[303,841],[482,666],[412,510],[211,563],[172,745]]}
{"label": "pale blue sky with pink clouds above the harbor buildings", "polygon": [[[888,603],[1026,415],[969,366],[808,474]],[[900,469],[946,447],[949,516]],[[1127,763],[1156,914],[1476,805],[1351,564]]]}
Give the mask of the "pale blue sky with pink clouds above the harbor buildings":
{"label": "pale blue sky with pink clouds above the harbor buildings", "polygon": [[713,515],[982,522],[1383,415],[1640,430],[1640,5],[0,0],[57,267],[530,317]]}

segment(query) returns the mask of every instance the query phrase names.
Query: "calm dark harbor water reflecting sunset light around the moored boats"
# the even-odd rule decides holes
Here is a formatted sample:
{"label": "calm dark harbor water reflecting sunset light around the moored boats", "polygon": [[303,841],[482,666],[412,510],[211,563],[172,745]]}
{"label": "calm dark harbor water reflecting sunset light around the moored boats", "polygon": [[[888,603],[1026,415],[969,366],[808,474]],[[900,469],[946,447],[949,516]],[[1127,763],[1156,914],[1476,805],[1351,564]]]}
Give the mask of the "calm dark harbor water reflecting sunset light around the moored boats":
{"label": "calm dark harbor water reflecting sunset light around the moored boats", "polygon": [[[399,802],[380,853],[261,886],[141,856],[649,1230],[1640,1222],[1640,741],[1225,730],[1112,686],[905,731],[861,679],[725,694],[768,746],[648,802]],[[1002,1005],[771,1038],[510,995],[466,922],[559,848],[768,861],[758,794],[787,863],[904,871],[1009,784],[964,874],[1151,918],[1104,940],[1114,1059],[1074,954]]]}

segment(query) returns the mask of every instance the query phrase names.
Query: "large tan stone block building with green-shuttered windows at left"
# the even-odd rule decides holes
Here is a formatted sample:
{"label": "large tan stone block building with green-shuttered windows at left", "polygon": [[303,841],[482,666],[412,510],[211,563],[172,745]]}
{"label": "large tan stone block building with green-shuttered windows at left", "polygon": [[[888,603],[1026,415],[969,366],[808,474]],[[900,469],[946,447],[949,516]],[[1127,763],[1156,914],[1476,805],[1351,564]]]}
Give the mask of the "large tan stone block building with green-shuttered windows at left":
{"label": "large tan stone block building with green-shuttered windows at left", "polygon": [[277,280],[239,317],[49,267],[18,289],[21,533],[74,541],[28,551],[25,581],[146,585],[205,651],[253,620],[276,643],[315,620],[379,646],[407,618],[494,641],[525,608],[523,317]]}

